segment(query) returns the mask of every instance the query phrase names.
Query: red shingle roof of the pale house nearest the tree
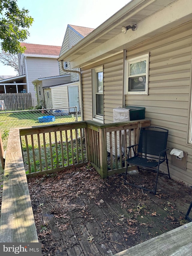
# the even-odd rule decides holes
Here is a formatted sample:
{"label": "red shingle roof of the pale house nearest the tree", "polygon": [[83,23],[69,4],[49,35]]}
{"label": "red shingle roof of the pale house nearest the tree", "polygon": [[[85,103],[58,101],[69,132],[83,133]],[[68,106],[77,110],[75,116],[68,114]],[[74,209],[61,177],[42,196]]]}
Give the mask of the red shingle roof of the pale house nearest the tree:
{"label": "red shingle roof of the pale house nearest the tree", "polygon": [[61,46],[54,45],[21,43],[21,46],[26,47],[24,54],[59,56],[61,50]]}

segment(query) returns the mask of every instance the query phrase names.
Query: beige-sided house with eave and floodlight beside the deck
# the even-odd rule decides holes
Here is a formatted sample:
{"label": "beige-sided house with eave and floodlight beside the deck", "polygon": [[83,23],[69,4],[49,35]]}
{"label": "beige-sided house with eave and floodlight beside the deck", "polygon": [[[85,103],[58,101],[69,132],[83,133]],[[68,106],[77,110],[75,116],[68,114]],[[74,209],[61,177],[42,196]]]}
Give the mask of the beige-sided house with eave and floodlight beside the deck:
{"label": "beige-sided house with eave and floodlight beside the deck", "polygon": [[[145,107],[145,119],[152,126],[169,129],[171,177],[188,185],[192,185],[191,44],[190,1],[133,0],[58,58],[81,69],[84,120],[111,123],[115,107],[134,105]],[[182,161],[169,154],[173,148],[184,151]]]}

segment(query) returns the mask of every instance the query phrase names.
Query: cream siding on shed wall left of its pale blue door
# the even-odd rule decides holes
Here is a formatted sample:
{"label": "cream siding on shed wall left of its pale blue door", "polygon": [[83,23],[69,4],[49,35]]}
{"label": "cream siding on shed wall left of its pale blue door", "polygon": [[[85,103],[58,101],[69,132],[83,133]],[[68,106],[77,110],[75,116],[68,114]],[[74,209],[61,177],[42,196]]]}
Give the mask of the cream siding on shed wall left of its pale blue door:
{"label": "cream siding on shed wall left of its pale blue door", "polygon": [[52,87],[51,91],[53,108],[69,107],[67,86]]}

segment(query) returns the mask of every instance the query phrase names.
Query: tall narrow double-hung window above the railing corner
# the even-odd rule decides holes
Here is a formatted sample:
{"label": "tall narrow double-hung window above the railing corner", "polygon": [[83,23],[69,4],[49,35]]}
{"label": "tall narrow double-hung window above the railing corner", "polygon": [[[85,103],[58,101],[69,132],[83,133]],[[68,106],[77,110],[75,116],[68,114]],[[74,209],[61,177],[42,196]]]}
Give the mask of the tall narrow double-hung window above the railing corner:
{"label": "tall narrow double-hung window above the railing corner", "polygon": [[103,121],[103,67],[92,69],[93,119]]}

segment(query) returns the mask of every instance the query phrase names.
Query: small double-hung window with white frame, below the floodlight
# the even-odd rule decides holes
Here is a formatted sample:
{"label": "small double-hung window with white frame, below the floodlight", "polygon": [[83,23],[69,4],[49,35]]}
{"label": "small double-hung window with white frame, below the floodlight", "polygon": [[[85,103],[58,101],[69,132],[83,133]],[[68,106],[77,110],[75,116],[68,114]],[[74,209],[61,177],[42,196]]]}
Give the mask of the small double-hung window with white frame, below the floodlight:
{"label": "small double-hung window with white frame, below the floodlight", "polygon": [[149,53],[127,60],[127,94],[148,94]]}

